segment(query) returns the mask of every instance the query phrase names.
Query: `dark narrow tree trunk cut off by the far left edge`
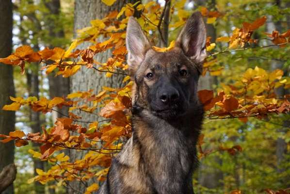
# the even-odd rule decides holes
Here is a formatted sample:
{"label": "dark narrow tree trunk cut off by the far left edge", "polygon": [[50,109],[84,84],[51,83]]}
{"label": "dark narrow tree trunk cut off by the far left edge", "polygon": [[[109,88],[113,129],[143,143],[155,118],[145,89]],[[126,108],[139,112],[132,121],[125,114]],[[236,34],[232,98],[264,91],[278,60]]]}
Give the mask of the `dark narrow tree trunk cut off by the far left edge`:
{"label": "dark narrow tree trunk cut off by the far left edge", "polygon": [[[0,3],[0,58],[7,57],[12,51],[12,1]],[[10,96],[15,97],[13,67],[0,63],[0,133],[8,135],[15,129],[15,112],[3,111],[2,107],[11,104]],[[8,164],[14,163],[14,142],[0,143],[0,171]],[[2,180],[0,180],[2,181]],[[2,194],[14,194],[13,184]]]}

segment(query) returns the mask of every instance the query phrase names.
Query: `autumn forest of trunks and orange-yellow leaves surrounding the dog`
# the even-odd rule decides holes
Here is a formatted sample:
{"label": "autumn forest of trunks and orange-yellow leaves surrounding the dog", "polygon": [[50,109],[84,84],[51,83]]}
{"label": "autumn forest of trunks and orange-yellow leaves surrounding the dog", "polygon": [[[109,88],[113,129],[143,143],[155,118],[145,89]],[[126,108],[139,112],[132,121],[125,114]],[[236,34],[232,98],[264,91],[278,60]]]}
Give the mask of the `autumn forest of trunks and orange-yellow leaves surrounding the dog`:
{"label": "autumn forest of trunks and orange-yellow leaves surrounding the dog", "polygon": [[290,0],[1,0],[2,193],[97,191],[131,134],[128,17],[166,51],[194,11],[210,37],[194,191],[290,193]]}

